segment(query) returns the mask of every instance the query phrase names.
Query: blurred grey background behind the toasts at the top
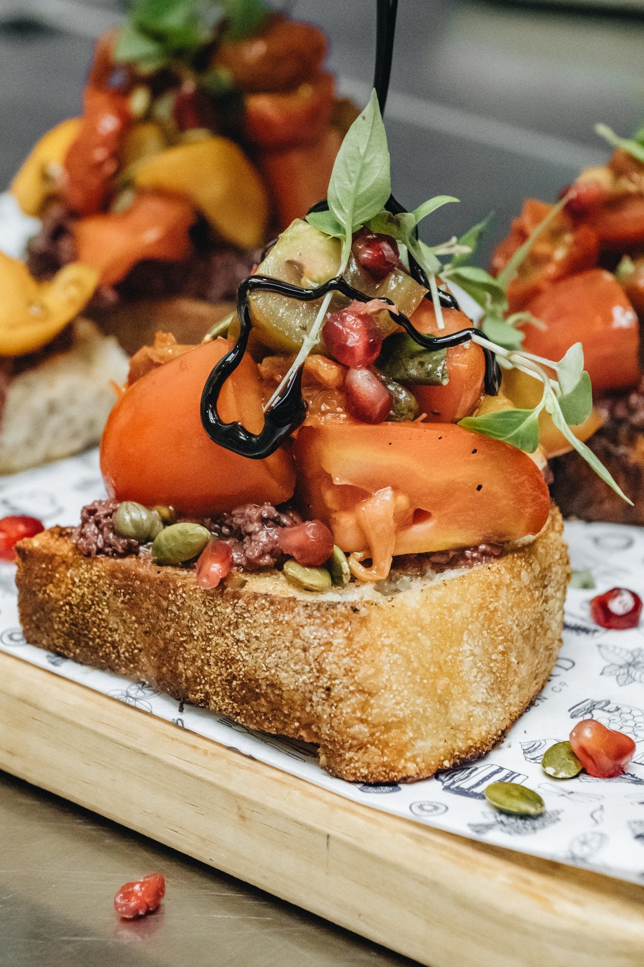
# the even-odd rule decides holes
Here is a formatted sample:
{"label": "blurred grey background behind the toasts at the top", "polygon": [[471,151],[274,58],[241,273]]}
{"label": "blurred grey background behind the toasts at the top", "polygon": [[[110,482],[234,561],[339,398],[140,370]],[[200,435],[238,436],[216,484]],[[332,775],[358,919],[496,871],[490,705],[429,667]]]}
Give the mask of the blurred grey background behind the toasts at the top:
{"label": "blurred grey background behind the toasts at the top", "polygon": [[[369,94],[374,0],[295,0],[331,39],[331,67],[357,102]],[[34,140],[78,111],[93,39],[119,0],[0,0],[0,183]],[[628,8],[632,12],[628,13]],[[553,198],[602,161],[602,121],[624,134],[644,118],[644,5],[586,10],[474,0],[400,0],[387,105],[397,196],[461,198],[425,228],[441,241],[495,213],[482,256],[522,198]],[[625,13],[626,11],[626,13]],[[40,21],[40,25],[37,25]]]}

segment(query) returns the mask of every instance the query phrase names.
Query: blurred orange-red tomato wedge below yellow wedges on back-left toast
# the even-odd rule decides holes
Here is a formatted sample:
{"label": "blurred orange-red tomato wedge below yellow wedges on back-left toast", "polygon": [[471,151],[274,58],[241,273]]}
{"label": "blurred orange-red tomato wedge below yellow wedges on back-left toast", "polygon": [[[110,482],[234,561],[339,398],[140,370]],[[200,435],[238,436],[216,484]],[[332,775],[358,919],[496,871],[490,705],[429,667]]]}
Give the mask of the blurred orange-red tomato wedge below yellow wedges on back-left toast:
{"label": "blurred orange-red tomato wedge below yellow wedges on back-left toast", "polygon": [[73,225],[79,262],[114,285],[143,259],[179,262],[192,250],[188,228],[197,213],[186,198],[152,191],[135,195],[124,212],[91,215]]}

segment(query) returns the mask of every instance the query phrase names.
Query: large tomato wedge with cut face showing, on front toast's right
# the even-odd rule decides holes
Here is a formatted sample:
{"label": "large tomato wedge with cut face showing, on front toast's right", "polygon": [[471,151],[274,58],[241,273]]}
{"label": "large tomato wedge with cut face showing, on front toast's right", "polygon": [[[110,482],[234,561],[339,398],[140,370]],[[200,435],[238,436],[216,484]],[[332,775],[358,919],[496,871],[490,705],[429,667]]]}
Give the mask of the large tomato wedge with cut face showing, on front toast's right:
{"label": "large tomato wedge with cut face showing, on front toast's right", "polygon": [[378,568],[392,553],[538,534],[549,513],[527,454],[454,424],[304,426],[295,462],[305,515]]}

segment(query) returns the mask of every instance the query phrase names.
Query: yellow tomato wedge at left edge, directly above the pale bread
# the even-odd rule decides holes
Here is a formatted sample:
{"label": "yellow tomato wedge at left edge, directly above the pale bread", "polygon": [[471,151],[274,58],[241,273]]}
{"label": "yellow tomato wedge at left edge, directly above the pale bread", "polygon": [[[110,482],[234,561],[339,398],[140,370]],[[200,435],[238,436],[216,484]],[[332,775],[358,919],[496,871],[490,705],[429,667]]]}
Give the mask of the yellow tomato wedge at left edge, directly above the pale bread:
{"label": "yellow tomato wedge at left edge, directly above the pale bread", "polygon": [[41,349],[89,302],[97,283],[96,269],[80,262],[37,282],[26,265],[0,253],[0,356]]}

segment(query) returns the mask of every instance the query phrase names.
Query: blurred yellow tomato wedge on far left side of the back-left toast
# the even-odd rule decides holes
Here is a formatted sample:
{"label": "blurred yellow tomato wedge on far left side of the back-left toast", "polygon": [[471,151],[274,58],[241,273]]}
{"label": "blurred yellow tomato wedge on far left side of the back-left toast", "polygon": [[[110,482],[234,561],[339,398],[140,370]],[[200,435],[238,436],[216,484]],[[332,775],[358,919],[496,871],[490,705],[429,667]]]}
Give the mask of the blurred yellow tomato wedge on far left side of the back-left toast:
{"label": "blurred yellow tomato wedge on far left side of the back-left toast", "polygon": [[69,118],[42,135],[14,177],[11,191],[25,215],[38,216],[47,198],[55,194],[57,175],[70,144],[80,131],[81,118]]}

